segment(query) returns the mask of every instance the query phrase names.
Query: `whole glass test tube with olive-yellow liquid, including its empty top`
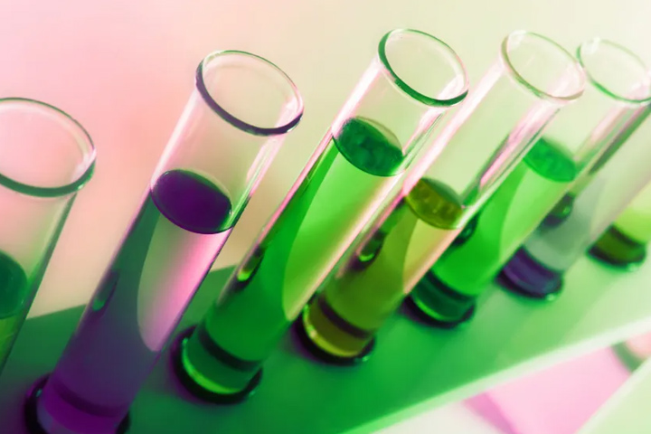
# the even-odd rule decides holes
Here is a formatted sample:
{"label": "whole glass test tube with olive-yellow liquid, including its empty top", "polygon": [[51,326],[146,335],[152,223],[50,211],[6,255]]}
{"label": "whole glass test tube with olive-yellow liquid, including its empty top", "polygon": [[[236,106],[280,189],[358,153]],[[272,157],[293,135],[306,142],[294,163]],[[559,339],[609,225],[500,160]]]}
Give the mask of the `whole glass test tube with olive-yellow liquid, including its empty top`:
{"label": "whole glass test tube with olive-yellow liquid, including its empty top", "polygon": [[500,56],[451,118],[401,193],[355,242],[304,310],[307,337],[339,361],[373,336],[533,145],[579,98],[584,74],[554,42],[505,38]]}

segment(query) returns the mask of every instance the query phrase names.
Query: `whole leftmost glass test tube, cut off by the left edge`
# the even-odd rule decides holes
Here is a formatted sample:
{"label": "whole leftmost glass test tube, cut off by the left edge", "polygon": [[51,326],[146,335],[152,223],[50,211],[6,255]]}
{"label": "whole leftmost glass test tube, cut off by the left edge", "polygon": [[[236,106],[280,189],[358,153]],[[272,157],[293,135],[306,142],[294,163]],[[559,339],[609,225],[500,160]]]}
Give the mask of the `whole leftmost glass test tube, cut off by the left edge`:
{"label": "whole leftmost glass test tube, cut off by the left edge", "polygon": [[0,99],[0,371],[94,165],[76,120],[40,101]]}

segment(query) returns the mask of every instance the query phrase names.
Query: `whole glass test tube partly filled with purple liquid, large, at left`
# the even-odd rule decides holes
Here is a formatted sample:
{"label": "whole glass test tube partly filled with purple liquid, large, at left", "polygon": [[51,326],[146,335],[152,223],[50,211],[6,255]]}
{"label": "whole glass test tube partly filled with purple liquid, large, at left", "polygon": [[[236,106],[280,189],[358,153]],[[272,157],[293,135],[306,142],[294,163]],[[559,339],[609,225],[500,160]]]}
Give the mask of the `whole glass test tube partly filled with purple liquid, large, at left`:
{"label": "whole glass test tube partly filled with purple liquid, large, at left", "polygon": [[303,113],[275,65],[213,52],[137,216],[38,394],[48,433],[112,433]]}

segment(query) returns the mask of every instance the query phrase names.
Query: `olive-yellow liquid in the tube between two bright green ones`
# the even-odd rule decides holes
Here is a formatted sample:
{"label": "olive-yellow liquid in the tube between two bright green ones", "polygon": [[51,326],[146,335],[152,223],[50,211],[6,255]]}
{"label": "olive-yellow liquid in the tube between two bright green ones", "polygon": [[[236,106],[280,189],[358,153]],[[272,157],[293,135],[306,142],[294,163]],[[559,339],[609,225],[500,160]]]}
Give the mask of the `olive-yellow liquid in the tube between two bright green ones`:
{"label": "olive-yellow liquid in the tube between two bright green ones", "polygon": [[446,185],[420,179],[307,307],[313,342],[337,356],[360,354],[454,239],[463,212]]}

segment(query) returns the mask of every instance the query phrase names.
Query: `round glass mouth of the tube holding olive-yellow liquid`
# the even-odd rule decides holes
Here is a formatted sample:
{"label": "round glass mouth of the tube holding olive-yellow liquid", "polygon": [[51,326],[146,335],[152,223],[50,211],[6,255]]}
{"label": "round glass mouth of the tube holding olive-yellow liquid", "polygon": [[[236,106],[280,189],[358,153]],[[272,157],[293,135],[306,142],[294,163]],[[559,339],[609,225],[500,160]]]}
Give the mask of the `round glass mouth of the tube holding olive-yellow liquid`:
{"label": "round glass mouth of the tube holding olive-yellow liquid", "polygon": [[541,34],[510,33],[500,55],[510,77],[539,98],[563,104],[578,99],[585,90],[586,74],[580,62]]}

